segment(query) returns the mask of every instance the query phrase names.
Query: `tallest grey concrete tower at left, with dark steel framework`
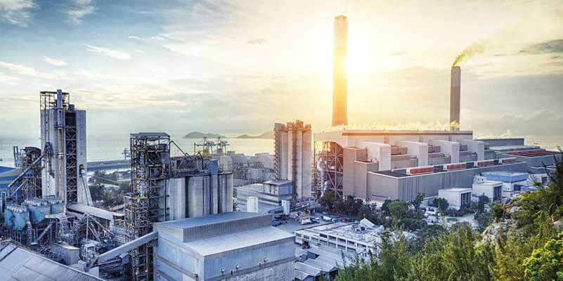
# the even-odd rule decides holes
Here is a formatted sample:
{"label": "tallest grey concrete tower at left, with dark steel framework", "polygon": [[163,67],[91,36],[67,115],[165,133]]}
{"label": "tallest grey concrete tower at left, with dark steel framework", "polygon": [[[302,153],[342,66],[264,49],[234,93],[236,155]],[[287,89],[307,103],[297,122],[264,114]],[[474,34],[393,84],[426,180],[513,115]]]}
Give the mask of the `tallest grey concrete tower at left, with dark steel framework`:
{"label": "tallest grey concrete tower at left, with dark steel framework", "polygon": [[41,92],[42,196],[87,204],[82,175],[86,174],[86,111],[70,103],[69,93]]}

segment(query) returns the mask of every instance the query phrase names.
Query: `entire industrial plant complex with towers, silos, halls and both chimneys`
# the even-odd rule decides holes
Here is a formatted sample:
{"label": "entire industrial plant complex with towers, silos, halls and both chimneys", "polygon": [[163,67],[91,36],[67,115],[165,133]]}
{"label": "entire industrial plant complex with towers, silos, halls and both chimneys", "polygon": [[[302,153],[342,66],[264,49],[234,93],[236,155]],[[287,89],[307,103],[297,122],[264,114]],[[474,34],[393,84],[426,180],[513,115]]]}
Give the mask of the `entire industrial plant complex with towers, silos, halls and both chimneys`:
{"label": "entire industrial plant complex with towers, silos, halls and both chimneys", "polygon": [[[131,131],[124,159],[88,162],[88,108],[73,93],[40,91],[29,114],[41,116],[41,146],[21,143],[14,165],[0,166],[0,280],[335,280],[346,264],[375,259],[386,235],[417,239],[417,223],[461,221],[491,232],[461,213],[550,185],[561,152],[466,129],[459,65],[449,96],[435,96],[450,100],[449,130],[347,129],[347,21],[334,20],[332,127],[271,124],[274,155],[231,151],[224,138],[192,149],[164,131]],[[116,169],[118,180],[93,174]],[[122,204],[93,200],[96,181],[128,183]],[[420,219],[401,231],[391,216],[371,218],[417,200]]]}

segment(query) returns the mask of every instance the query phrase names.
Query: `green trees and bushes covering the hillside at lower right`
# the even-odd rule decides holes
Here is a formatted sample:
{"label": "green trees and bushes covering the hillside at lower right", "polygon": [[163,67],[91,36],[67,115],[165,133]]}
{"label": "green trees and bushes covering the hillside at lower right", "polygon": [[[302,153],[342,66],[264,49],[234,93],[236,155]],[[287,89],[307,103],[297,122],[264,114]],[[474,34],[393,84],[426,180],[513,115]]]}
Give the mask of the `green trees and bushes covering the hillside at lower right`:
{"label": "green trees and bushes covering the hillside at lower right", "polygon": [[[400,228],[407,204],[385,203],[384,214]],[[442,200],[434,203],[447,209]],[[486,228],[482,234],[457,223],[425,226],[414,244],[404,237],[384,238],[376,245],[377,256],[346,265],[337,280],[563,280],[563,233],[555,226],[563,219],[562,162],[548,188],[492,204],[489,212],[486,204],[482,198],[466,210]]]}

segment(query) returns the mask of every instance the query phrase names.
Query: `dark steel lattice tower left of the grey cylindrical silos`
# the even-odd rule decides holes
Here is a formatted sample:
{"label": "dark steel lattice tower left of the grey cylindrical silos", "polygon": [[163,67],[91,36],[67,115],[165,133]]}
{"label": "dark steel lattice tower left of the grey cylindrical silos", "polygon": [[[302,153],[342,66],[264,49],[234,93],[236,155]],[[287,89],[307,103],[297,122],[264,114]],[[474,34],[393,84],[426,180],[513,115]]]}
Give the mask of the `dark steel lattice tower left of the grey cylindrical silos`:
{"label": "dark steel lattice tower left of the grey cylindrical silos", "polygon": [[[130,138],[131,194],[125,197],[127,242],[165,221],[165,181],[170,172],[170,136],[167,133],[134,133]],[[159,202],[164,202],[160,207]],[[153,279],[153,247],[143,244],[130,252],[129,280]]]}

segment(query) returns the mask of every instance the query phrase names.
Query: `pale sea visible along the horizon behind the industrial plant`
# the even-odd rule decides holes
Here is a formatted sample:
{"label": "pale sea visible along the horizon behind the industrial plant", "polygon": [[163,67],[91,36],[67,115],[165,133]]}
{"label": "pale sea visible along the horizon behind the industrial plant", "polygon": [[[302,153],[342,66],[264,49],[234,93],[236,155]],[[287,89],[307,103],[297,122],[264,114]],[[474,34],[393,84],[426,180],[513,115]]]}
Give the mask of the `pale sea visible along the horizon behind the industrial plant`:
{"label": "pale sea visible along the horizon behind the industrial plant", "polygon": [[[174,136],[172,140],[188,154],[194,151],[194,143],[201,143],[202,139],[182,138],[183,135]],[[487,136],[491,138],[491,136]],[[506,137],[506,136],[503,136]],[[479,136],[476,136],[479,138]],[[526,145],[539,145],[548,150],[563,148],[563,136],[524,136]],[[252,156],[256,153],[268,152],[273,154],[273,139],[263,138],[222,138],[228,141],[227,150],[244,153]],[[13,146],[20,148],[34,146],[39,148],[39,138],[31,136],[0,136],[0,166],[13,166]],[[123,150],[129,148],[129,135],[125,136],[89,136],[86,142],[86,157],[91,161],[104,161],[123,159]],[[181,152],[172,147],[172,155],[181,155]]]}

